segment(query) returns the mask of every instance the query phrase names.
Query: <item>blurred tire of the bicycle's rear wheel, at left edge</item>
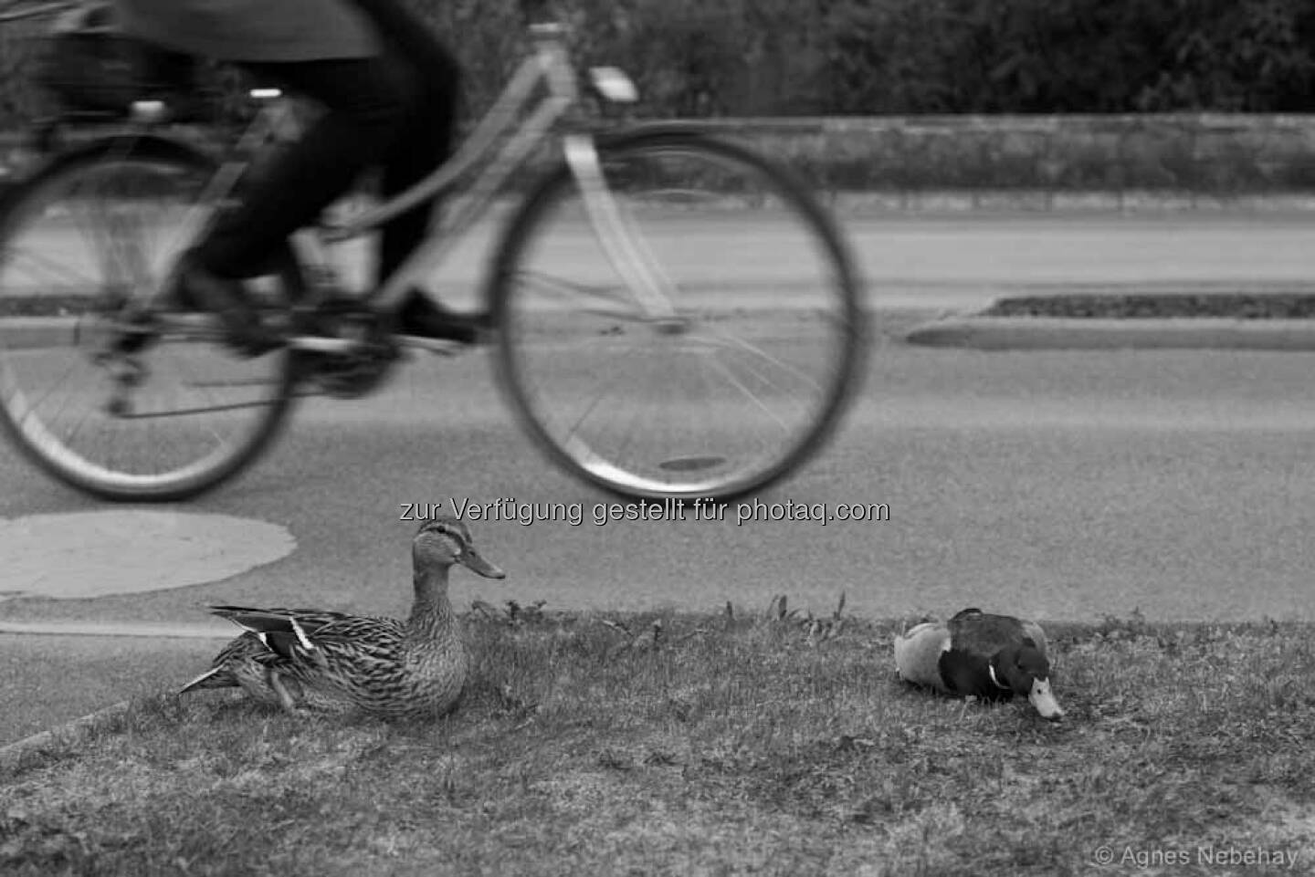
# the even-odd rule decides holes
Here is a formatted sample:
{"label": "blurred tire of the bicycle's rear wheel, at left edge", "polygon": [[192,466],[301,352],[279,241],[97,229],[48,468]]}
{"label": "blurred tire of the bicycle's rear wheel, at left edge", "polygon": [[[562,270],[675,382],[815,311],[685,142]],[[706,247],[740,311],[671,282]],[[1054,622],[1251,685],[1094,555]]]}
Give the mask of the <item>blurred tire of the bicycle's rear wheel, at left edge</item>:
{"label": "blurred tire of the bicycle's rear wheel, at left edge", "polygon": [[[188,180],[199,183],[203,187],[204,181],[210,180],[217,170],[216,162],[204,153],[178,141],[158,135],[110,135],[53,156],[37,172],[22,180],[0,204],[0,305],[4,304],[7,296],[5,279],[8,277],[8,270],[21,260],[24,254],[16,241],[21,242],[21,233],[26,229],[25,224],[36,224],[33,217],[42,206],[43,199],[58,199],[58,193],[64,189],[75,192],[74,184],[79,179],[93,179],[95,174],[108,174],[116,167],[153,167],[160,171],[159,179],[162,180]],[[51,196],[51,193],[55,195]],[[70,200],[72,197],[75,196],[70,196]],[[153,195],[138,197],[149,200]],[[58,216],[58,210],[51,210],[50,213]],[[37,234],[39,231],[38,229]],[[68,237],[75,237],[75,234],[76,231],[68,234]],[[300,288],[302,279],[291,247],[285,247],[284,251],[277,254],[276,260],[271,264],[276,266],[272,273],[277,279],[281,295],[288,297],[296,296],[296,289]],[[78,321],[84,318],[88,318],[88,316],[82,314],[75,317]],[[95,318],[95,316],[89,317],[89,320]],[[8,317],[0,312],[0,330],[3,330],[7,320]],[[88,334],[91,331],[93,330],[88,330]],[[76,337],[79,333],[82,333],[80,326],[72,334]],[[28,343],[30,344],[32,342]],[[163,344],[159,347],[163,347]],[[192,347],[196,347],[196,344]],[[30,350],[37,350],[38,352],[30,352]],[[20,380],[21,369],[18,364],[25,356],[55,355],[41,354],[41,350],[43,348],[39,344],[29,350],[22,350],[21,343],[17,347],[11,347],[7,343],[4,331],[0,331],[0,427],[3,427],[5,435],[22,454],[47,475],[76,490],[101,500],[122,502],[188,500],[224,484],[251,465],[260,454],[268,450],[287,422],[292,402],[295,401],[293,391],[297,381],[297,368],[293,356],[285,351],[271,354],[264,358],[266,364],[274,372],[264,381],[268,393],[256,404],[250,405],[250,408],[256,409],[256,413],[249,429],[245,427],[243,434],[233,444],[220,447],[200,459],[185,460],[168,471],[128,472],[122,468],[116,468],[116,464],[112,462],[105,463],[89,459],[85,451],[72,447],[74,437],[59,437],[58,430],[51,429],[37,414],[37,404],[43,401],[43,398],[33,397],[37,401],[29,401],[28,393],[30,388],[24,387]],[[76,346],[72,350],[78,354]],[[271,358],[274,359],[272,363],[270,363]],[[179,359],[181,360],[181,354]],[[70,375],[75,373],[75,369],[82,368],[80,363],[70,362],[74,363],[68,366]],[[237,360],[234,359],[234,362]],[[32,371],[37,372],[39,369],[33,366]],[[156,371],[159,373],[159,369]],[[184,383],[181,377],[179,377],[179,383]],[[204,387],[206,381],[197,381],[197,385]],[[259,384],[252,381],[252,385]],[[74,391],[70,392],[72,393]],[[264,393],[264,391],[260,392]],[[233,408],[237,409],[241,406],[234,405]],[[210,408],[199,410],[210,413],[221,409]],[[184,409],[181,413],[185,414],[188,412]],[[93,421],[96,415],[88,413],[85,417]],[[114,415],[110,414],[112,417]],[[109,418],[105,419],[108,421]],[[142,419],[146,418],[143,417]],[[121,431],[129,429],[128,425],[120,425],[120,427]],[[83,429],[85,427],[79,426],[75,431]],[[109,426],[105,426],[107,434],[109,429]],[[143,429],[150,433],[150,423],[143,425]],[[204,430],[201,427],[193,429],[205,431],[213,430],[213,426],[205,425]],[[166,451],[171,451],[172,446],[168,448],[163,447],[164,442],[159,440],[158,434],[156,444],[160,447],[153,448],[146,446],[141,454],[158,454],[160,460],[167,459],[168,455]]]}

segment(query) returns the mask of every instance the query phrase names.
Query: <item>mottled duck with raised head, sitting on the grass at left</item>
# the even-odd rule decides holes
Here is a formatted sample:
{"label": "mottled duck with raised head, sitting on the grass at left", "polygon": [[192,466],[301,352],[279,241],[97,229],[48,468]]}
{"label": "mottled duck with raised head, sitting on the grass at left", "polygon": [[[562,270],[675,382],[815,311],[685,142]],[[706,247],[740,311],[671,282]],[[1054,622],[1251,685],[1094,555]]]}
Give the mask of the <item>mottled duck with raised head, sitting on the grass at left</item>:
{"label": "mottled duck with raised head, sitting on the grass at left", "polygon": [[412,539],[414,601],[404,622],[318,609],[212,605],[242,628],[210,669],[179,689],[241,688],[289,713],[360,711],[379,718],[442,715],[456,705],[469,659],[447,596],[463,565],[485,579],[506,573],[475,548],[452,517],[423,521]]}

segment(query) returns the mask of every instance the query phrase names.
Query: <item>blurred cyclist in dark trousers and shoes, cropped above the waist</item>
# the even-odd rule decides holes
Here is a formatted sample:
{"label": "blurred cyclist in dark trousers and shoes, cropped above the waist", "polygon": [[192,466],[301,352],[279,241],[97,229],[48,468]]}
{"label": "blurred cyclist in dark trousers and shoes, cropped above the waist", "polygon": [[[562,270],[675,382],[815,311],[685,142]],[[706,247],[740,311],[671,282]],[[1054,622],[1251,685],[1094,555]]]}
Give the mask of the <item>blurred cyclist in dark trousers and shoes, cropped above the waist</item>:
{"label": "blurred cyclist in dark trousers and shoes, cropped above the waist", "polygon": [[[179,266],[180,306],[218,314],[249,355],[277,346],[242,279],[297,229],[381,168],[388,197],[433,171],[451,149],[460,71],[402,0],[113,0],[124,30],[146,42],[247,68],[322,105],[323,113]],[[423,239],[433,204],[388,222],[377,252],[383,283]],[[413,291],[404,334],[473,342],[477,318],[435,308]]]}

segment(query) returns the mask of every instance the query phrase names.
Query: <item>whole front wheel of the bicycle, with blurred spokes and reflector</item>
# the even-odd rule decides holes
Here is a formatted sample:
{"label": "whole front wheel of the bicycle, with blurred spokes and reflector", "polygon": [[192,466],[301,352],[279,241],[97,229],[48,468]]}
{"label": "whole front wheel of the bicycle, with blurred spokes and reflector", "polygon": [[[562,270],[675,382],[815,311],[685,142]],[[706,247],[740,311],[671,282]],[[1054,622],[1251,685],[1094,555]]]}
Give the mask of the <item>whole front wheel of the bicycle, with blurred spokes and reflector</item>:
{"label": "whole front wheel of the bicycle, with blurred spokes and reflector", "polygon": [[[863,371],[847,247],[805,185],[735,143],[650,131],[596,151],[605,209],[563,164],[497,251],[501,384],[537,443],[609,492],[761,490],[823,446]],[[665,314],[622,279],[600,222],[639,252]]]}

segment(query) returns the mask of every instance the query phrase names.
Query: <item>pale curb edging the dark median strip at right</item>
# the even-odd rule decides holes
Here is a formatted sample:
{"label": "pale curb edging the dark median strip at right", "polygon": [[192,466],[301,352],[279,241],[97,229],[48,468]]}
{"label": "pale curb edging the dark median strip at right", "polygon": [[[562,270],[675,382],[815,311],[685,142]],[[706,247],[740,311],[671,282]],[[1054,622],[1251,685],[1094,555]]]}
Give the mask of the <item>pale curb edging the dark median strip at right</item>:
{"label": "pale curb edging the dark median strip at right", "polygon": [[959,316],[914,326],[903,339],[973,350],[1315,351],[1315,320]]}

